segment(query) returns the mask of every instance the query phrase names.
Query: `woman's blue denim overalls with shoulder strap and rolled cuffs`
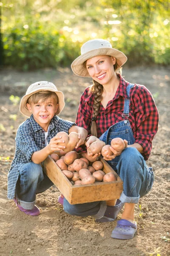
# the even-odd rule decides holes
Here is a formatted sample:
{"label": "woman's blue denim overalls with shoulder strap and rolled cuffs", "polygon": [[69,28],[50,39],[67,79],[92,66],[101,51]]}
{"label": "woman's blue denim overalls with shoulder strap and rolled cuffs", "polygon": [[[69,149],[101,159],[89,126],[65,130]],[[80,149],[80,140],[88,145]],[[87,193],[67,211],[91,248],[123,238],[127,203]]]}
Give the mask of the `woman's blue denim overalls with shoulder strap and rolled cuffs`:
{"label": "woman's blue denim overalls with shoulder strap and rolled cuffs", "polygon": [[[134,144],[133,131],[130,127],[129,104],[130,104],[130,89],[134,84],[127,86],[127,98],[124,102],[124,112],[122,113],[123,121],[112,125],[99,138],[106,144],[111,145],[111,140],[120,137],[127,140],[128,145]],[[142,154],[134,147],[125,148],[120,156],[115,157],[111,161],[107,161],[109,165],[118,173],[123,180],[123,192],[119,198],[122,203],[139,202],[139,198],[146,195],[153,186],[154,175],[152,168],[148,168]],[[64,198],[64,211],[76,216],[92,216],[94,218],[101,218],[106,210],[105,201],[91,202],[85,204],[71,205]]]}

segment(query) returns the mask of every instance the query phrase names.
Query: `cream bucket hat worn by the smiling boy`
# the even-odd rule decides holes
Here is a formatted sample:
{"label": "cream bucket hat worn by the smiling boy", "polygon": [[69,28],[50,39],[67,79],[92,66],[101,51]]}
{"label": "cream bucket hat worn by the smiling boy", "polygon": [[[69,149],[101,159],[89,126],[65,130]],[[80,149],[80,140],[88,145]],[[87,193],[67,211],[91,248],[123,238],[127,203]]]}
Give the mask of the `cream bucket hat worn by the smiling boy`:
{"label": "cream bucket hat worn by the smiling boy", "polygon": [[23,98],[21,99],[21,102],[20,102],[20,112],[27,117],[31,116],[31,113],[28,111],[28,108],[26,106],[27,100],[32,94],[40,92],[40,91],[51,91],[51,92],[56,93],[56,95],[58,97],[59,105],[58,105],[57,112],[55,113],[55,115],[59,114],[65,106],[64,94],[61,91],[58,91],[56,86],[53,83],[50,83],[47,81],[36,82],[34,84],[31,84],[28,87],[28,89],[26,91],[26,95],[23,96]]}

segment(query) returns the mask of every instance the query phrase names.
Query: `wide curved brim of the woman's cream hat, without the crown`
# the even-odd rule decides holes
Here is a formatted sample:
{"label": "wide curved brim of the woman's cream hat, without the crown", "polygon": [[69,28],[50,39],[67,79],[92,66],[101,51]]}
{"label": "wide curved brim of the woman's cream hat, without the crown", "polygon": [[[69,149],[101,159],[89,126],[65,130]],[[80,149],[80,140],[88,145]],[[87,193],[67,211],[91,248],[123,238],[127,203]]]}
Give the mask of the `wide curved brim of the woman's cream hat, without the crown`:
{"label": "wide curved brim of the woman's cream hat, without the crown", "polygon": [[125,64],[125,62],[127,61],[127,57],[123,52],[120,52],[119,50],[110,47],[102,47],[93,49],[80,55],[71,64],[71,69],[77,76],[91,77],[88,73],[87,68],[84,66],[84,62],[90,58],[100,55],[110,55],[115,57],[119,67],[122,67],[122,65]]}

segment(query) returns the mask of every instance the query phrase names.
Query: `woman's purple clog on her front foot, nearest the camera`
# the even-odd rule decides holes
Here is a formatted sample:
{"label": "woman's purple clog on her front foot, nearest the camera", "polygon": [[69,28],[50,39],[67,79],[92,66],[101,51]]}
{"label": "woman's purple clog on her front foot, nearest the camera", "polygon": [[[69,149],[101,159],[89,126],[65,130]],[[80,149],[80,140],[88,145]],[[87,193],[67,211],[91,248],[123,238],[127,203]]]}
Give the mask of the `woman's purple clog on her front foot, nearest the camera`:
{"label": "woman's purple clog on her front foot, nearest the camera", "polygon": [[117,226],[113,229],[111,237],[114,239],[131,239],[137,230],[137,224],[125,219],[117,221]]}

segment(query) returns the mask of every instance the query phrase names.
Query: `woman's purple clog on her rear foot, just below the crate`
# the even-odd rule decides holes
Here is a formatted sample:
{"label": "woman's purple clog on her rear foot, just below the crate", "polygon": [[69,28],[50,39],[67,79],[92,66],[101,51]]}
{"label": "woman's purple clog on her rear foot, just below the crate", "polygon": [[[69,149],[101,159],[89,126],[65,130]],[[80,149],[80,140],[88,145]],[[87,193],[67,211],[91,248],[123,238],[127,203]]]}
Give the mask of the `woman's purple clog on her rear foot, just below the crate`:
{"label": "woman's purple clog on her rear foot, just below the crate", "polygon": [[108,222],[115,221],[118,213],[122,209],[125,203],[122,203],[119,199],[116,202],[115,206],[107,206],[105,214],[102,218],[96,219],[98,222]]}

